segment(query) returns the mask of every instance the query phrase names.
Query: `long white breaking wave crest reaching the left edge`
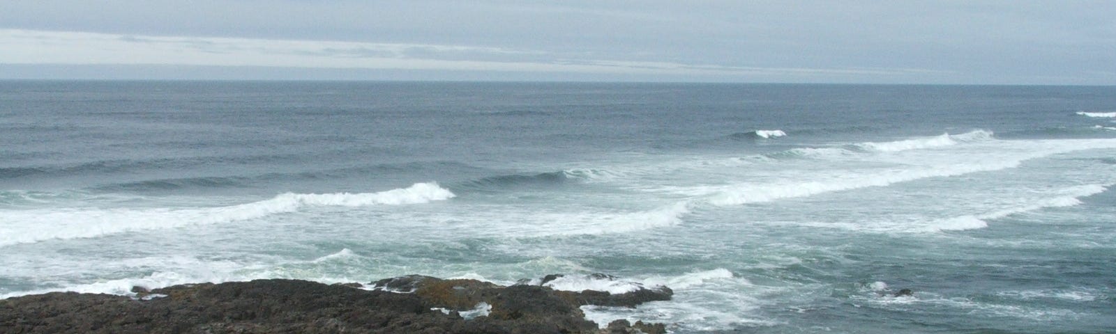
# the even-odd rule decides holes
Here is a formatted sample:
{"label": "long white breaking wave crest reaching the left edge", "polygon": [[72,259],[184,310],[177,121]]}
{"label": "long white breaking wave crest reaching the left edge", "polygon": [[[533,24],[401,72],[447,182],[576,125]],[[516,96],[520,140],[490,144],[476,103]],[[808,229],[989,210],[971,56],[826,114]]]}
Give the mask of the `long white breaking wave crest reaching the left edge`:
{"label": "long white breaking wave crest reaching the left edge", "polygon": [[454,196],[437,184],[421,183],[379,193],[287,193],[271,199],[209,208],[7,210],[0,212],[0,246],[249,220],[306,207],[424,204]]}

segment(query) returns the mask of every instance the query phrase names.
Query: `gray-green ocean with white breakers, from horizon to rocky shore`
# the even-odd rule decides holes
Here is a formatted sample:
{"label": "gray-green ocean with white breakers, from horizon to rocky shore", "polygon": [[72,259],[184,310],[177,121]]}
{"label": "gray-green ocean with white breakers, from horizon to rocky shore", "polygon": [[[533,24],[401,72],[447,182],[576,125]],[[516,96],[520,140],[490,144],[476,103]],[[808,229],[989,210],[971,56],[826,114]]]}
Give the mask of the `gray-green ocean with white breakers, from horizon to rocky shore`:
{"label": "gray-green ocean with white breakers, from horizon to rocky shore", "polygon": [[0,81],[0,297],[565,274],[674,333],[1112,333],[1114,185],[1116,87]]}

